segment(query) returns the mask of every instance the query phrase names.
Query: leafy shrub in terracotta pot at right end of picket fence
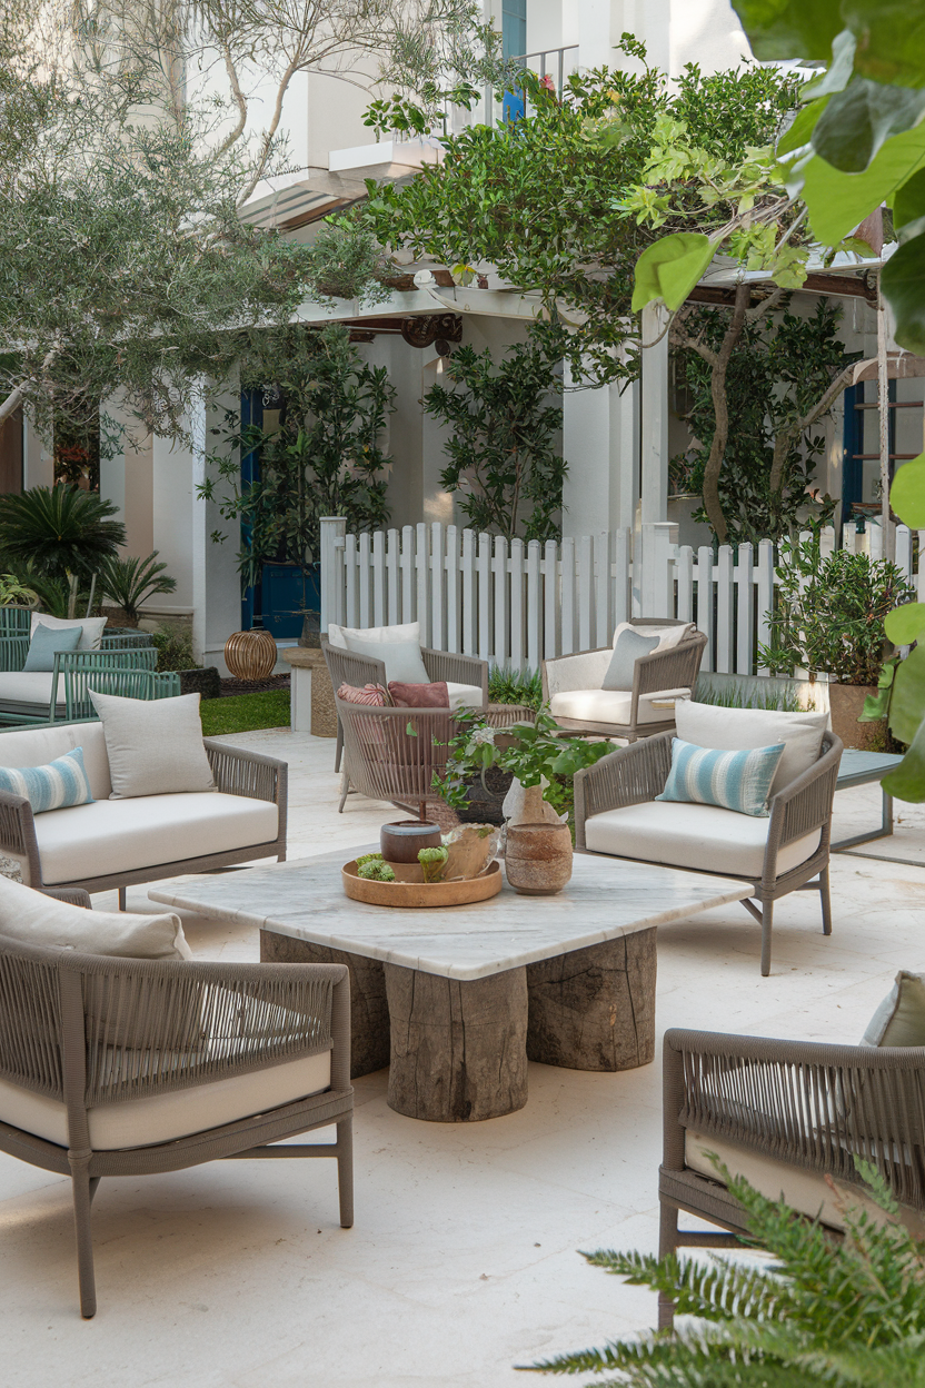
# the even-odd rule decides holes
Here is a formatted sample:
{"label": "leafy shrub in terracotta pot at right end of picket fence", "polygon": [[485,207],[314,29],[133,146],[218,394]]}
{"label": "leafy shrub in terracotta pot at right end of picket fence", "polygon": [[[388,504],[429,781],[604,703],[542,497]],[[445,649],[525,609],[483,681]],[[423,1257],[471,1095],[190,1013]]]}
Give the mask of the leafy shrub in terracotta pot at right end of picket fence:
{"label": "leafy shrub in terracotta pot at right end of picket fence", "polygon": [[868,697],[876,697],[892,657],[883,622],[915,597],[906,575],[886,559],[838,550],[822,555],[818,537],[784,541],[771,644],[761,647],[771,675],[829,677],[832,730],[846,747],[876,750],[886,737],[883,719],[858,722]]}

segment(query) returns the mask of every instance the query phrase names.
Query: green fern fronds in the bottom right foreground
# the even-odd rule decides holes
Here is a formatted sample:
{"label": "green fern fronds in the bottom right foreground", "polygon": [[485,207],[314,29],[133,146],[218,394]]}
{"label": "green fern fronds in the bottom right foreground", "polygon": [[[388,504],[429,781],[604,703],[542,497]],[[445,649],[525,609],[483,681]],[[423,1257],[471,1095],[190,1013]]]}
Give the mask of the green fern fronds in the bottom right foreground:
{"label": "green fern fronds in the bottom right foreground", "polygon": [[925,1245],[896,1219],[878,1170],[856,1158],[881,1223],[838,1194],[846,1235],[835,1244],[784,1201],[768,1201],[717,1170],[749,1214],[766,1267],[725,1258],[598,1252],[595,1267],[649,1287],[696,1317],[671,1332],[612,1341],[524,1367],[539,1373],[607,1373],[595,1388],[919,1388],[925,1384]]}

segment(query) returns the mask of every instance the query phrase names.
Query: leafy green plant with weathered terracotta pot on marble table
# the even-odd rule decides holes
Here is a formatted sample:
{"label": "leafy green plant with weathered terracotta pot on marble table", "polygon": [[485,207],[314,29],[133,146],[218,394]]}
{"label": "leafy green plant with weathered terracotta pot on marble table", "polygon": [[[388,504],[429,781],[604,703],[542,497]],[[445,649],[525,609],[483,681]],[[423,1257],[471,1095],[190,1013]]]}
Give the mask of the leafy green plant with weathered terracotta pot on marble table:
{"label": "leafy green plant with weathered terracotta pot on marble table", "polygon": [[434,788],[456,811],[465,813],[470,798],[481,811],[480,787],[490,791],[488,777],[506,773],[508,784],[523,790],[508,819],[508,881],[527,895],[560,891],[571,876],[574,773],[613,751],[610,743],[560,737],[544,711],[535,722],[505,729],[478,713],[458,722],[462,730],[449,743],[445,772],[434,772]]}

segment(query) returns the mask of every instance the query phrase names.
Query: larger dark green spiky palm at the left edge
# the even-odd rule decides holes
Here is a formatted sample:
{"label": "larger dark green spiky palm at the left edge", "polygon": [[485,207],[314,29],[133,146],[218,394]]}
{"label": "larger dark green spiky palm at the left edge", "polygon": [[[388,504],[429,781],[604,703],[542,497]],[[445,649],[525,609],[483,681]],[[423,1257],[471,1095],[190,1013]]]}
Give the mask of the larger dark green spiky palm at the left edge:
{"label": "larger dark green spiky palm at the left edge", "polygon": [[94,491],[57,484],[0,496],[0,548],[68,586],[68,616],[76,612],[78,583],[125,544],[125,526],[111,520],[118,507]]}

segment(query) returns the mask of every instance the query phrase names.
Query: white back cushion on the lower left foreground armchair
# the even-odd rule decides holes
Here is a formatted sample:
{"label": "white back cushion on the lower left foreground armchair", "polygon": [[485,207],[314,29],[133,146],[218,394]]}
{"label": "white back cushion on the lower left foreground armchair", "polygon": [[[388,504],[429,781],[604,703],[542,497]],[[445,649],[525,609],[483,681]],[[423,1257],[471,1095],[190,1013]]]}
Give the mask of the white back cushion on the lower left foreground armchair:
{"label": "white back cushion on the lower left foreground armchair", "polygon": [[28,945],[123,959],[193,958],[180,917],[173,912],[135,916],[128,911],[85,911],[3,876],[0,936]]}

